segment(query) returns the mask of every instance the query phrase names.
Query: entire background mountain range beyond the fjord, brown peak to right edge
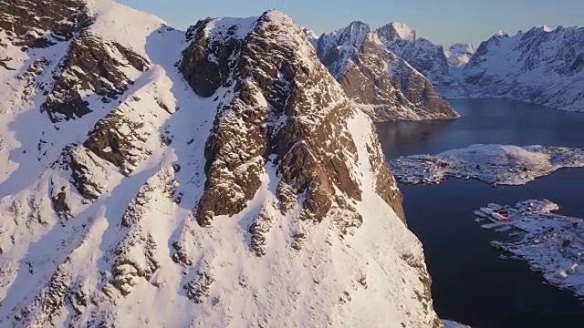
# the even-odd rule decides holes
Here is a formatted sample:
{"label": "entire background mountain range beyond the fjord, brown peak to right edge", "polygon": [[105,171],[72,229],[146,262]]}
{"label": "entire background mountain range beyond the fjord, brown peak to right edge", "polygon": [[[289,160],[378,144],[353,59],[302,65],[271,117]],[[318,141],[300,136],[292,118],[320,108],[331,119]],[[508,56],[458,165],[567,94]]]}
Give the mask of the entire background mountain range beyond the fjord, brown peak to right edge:
{"label": "entire background mountain range beyond the fjord, brown peak to right edge", "polygon": [[[387,50],[378,55],[382,59],[371,55],[373,45]],[[369,55],[364,56],[363,52]],[[516,36],[499,31],[478,48],[456,44],[443,51],[442,46],[416,36],[412,28],[400,23],[372,30],[365,23],[354,22],[347,28],[320,36],[318,56],[349,96],[368,105],[378,120],[449,116],[441,109],[421,104],[417,101],[420,97],[416,100],[405,95],[410,103],[399,99],[400,92],[405,90],[410,90],[410,94],[412,89],[417,90],[419,95],[421,89],[424,92],[427,89],[432,94],[431,88],[380,82],[385,67],[404,67],[396,60],[405,61],[406,67],[413,67],[427,77],[442,97],[503,97],[584,111],[584,27],[581,26],[534,27]],[[349,67],[359,73],[339,73],[349,72]],[[412,76],[411,69],[400,70],[401,77]],[[389,70],[388,75],[394,71]],[[365,82],[368,80],[370,83]],[[386,90],[387,84],[392,84],[397,91],[380,91],[378,85]],[[396,93],[397,97],[393,95]],[[396,103],[400,105],[396,107]],[[380,104],[389,105],[380,107]]]}

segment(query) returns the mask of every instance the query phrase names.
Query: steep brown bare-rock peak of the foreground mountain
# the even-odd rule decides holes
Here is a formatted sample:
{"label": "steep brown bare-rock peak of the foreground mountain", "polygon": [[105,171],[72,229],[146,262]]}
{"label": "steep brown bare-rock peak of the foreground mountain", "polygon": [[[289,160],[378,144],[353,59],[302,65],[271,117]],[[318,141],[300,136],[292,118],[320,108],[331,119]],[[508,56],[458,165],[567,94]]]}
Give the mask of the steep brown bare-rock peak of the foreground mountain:
{"label": "steep brown bare-rock peak of the foreground mountain", "polygon": [[[224,99],[205,150],[207,188],[197,210],[199,223],[206,225],[214,216],[235,215],[243,210],[261,187],[260,173],[268,159],[293,165],[286,169],[287,180],[277,186],[278,199],[284,203],[294,199],[294,195],[305,194],[310,209],[304,214],[307,217],[323,220],[331,206],[339,206],[330,202],[335,190],[360,200],[359,187],[350,179],[349,168],[343,164],[349,158],[342,154],[332,159],[320,158],[337,151],[320,149],[318,145],[355,148],[347,136],[336,135],[346,129],[342,122],[351,109],[349,103],[339,103],[336,108],[328,105],[332,99],[342,98],[342,91],[328,86],[334,82],[321,67],[312,47],[307,47],[304,31],[286,15],[271,11],[245,21],[206,21],[199,25],[194,35],[196,41],[185,50],[180,69],[199,96]],[[276,46],[272,40],[286,42]],[[270,51],[272,56],[266,58],[264,51]],[[224,89],[217,94],[219,87],[231,88],[233,94],[225,94]],[[263,103],[269,107],[264,108]],[[235,135],[241,128],[232,121],[246,122],[247,138],[225,139],[224,136]],[[322,134],[312,136],[314,139],[305,135],[307,131],[316,131],[317,127]],[[346,144],[340,146],[338,142]],[[232,149],[259,157],[224,159],[231,156]],[[294,157],[288,158],[291,154]],[[297,162],[297,157],[303,160]],[[294,161],[289,162],[292,159]],[[335,169],[322,166],[328,161],[334,163]],[[316,175],[300,179],[297,174],[303,167],[314,170]],[[239,172],[238,168],[245,170],[241,175],[234,175],[232,172]],[[387,195],[390,203],[395,197]],[[347,203],[347,200],[342,202]],[[398,202],[395,208],[401,212]],[[284,208],[290,207],[291,203],[284,205]]]}

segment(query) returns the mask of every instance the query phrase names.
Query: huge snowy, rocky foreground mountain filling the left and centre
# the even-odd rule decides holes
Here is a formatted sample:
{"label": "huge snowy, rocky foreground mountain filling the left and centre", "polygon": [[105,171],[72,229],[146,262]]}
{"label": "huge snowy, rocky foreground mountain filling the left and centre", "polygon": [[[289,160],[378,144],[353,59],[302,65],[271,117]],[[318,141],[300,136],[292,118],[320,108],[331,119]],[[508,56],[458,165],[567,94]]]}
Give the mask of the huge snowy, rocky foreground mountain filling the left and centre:
{"label": "huge snowy, rocky foreground mountain filling the left and centre", "polygon": [[370,118],[286,15],[0,7],[0,326],[442,325]]}

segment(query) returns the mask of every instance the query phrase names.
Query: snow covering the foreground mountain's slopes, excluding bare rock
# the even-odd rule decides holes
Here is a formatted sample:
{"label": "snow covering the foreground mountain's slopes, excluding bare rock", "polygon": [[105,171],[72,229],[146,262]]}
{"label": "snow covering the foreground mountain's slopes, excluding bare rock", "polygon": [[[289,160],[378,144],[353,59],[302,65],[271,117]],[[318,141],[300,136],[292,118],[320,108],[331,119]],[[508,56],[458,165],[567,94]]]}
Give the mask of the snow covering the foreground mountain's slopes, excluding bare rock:
{"label": "snow covering the foreground mountain's slopes, excluding bare rock", "polygon": [[[331,220],[305,227],[310,223],[297,220],[297,210],[275,211],[268,251],[256,257],[248,248],[248,225],[254,212],[276,199],[274,164],[266,161],[262,186],[245,210],[217,218],[208,229],[198,226],[192,210],[204,188],[205,141],[218,104],[215,97],[196,96],[174,66],[187,46],[184,33],[108,1],[95,1],[92,10],[97,16],[91,36],[126,46],[150,67],[141,72],[121,65],[133,85],[119,102],[104,104],[87,95],[94,111],[83,118],[52,124],[39,110],[42,91],[17,77],[36,57],[46,57],[50,63],[33,82],[50,85],[51,71],[58,72],[69,42],[28,52],[11,45],[1,49],[2,56],[12,58],[6,65],[16,70],[0,70],[5,99],[0,108],[0,326],[94,327],[103,321],[124,328],[423,327],[434,322],[431,301],[420,300],[427,288],[422,245],[375,190],[370,149],[381,153],[381,147],[366,114],[353,108],[346,126],[356,146],[350,169],[361,186],[355,208],[362,227],[341,239]],[[306,66],[325,70],[304,32],[286,15],[268,18],[290,31],[275,42],[301,45],[297,52]],[[219,19],[209,36],[223,36],[228,24],[239,26],[234,37],[248,36],[254,27],[250,19]],[[109,55],[125,64],[118,53]],[[332,77],[326,82],[339,102],[349,101]],[[223,87],[217,93],[232,91]],[[321,113],[333,105],[316,109]],[[88,131],[112,111],[141,123],[140,138],[129,138],[136,161],[127,175],[82,146]],[[115,132],[129,133],[129,128],[121,125]],[[161,142],[167,135],[172,144]],[[70,182],[70,170],[56,165],[68,145],[76,145],[72,154],[88,167],[89,179],[99,182],[96,200],[83,199]],[[59,190],[67,191],[68,218],[59,217],[51,204]],[[290,247],[291,235],[299,231],[307,231],[301,251]],[[175,241],[183,243],[192,265],[172,261]],[[199,272],[213,274],[214,282],[204,302],[195,303],[185,285]],[[127,295],[112,287],[115,275],[124,280]]]}

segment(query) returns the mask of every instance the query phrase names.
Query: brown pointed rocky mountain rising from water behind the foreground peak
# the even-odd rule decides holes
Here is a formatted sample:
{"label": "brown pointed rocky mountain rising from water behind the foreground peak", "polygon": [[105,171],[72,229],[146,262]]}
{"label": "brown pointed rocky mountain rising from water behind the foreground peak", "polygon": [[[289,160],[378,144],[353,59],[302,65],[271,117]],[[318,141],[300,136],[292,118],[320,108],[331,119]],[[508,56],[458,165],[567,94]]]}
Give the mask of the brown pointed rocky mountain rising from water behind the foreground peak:
{"label": "brown pointed rocky mountain rising from water behind the foreground peak", "polygon": [[353,22],[320,36],[317,52],[347,95],[375,120],[458,118],[428,79],[393,52],[393,38],[415,35],[406,27],[371,30]]}

